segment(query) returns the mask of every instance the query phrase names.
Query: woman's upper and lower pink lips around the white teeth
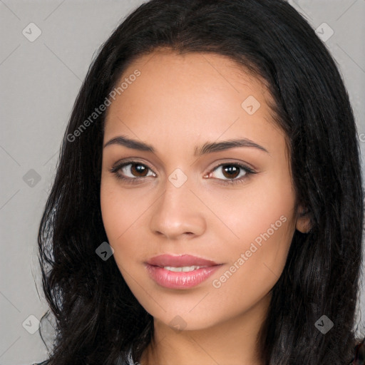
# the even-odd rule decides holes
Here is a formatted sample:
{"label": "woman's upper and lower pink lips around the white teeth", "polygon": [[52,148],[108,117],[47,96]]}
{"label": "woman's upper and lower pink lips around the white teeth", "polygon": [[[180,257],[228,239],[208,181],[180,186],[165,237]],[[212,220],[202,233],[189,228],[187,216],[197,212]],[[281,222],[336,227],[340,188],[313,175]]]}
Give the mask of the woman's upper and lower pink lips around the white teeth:
{"label": "woman's upper and lower pink lips around the white teeth", "polygon": [[[159,255],[146,262],[151,279],[162,287],[187,289],[195,287],[210,277],[222,264],[191,255]],[[204,266],[190,272],[172,272],[163,267]]]}

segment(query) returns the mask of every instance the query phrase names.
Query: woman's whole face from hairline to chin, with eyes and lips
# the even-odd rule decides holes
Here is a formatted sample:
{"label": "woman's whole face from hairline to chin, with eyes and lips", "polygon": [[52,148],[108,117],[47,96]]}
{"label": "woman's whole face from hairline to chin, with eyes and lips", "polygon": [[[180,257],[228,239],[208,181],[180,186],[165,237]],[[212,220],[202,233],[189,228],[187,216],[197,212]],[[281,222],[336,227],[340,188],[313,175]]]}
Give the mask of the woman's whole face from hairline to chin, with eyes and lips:
{"label": "woman's whole face from hairline to chin, with eyes and lips", "polygon": [[269,297],[300,223],[267,89],[224,56],[170,51],[138,58],[123,81],[101,174],[120,273],[171,327],[247,314]]}

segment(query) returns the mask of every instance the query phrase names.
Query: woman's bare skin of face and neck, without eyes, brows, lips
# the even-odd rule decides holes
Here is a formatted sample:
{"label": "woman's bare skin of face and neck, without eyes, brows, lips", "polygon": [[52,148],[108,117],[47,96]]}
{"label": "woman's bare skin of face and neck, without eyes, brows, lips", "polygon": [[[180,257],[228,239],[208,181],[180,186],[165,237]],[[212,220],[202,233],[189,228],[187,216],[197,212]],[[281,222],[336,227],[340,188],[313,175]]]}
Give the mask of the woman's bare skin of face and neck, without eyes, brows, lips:
{"label": "woman's bare skin of face and neck, without eyes, brows, lips", "polygon": [[[153,145],[155,152],[118,144],[103,148],[101,211],[120,273],[154,317],[155,336],[140,364],[262,364],[255,341],[270,291],[294,231],[309,228],[308,218],[299,216],[302,207],[296,209],[285,136],[267,105],[269,92],[242,66],[212,53],[160,49],[134,61],[120,81],[136,68],[140,76],[108,107],[104,145],[124,135]],[[260,103],[252,115],[241,106],[248,96]],[[194,155],[195,146],[236,138],[249,138],[268,153],[235,147]],[[131,170],[136,165],[119,170],[130,180],[142,177],[138,183],[110,172],[127,158],[148,167],[143,173]],[[240,163],[256,174],[240,169],[229,175],[223,163]],[[180,187],[168,179],[176,168],[187,177]],[[241,183],[224,184],[243,175]],[[214,287],[213,281],[235,262],[237,267],[240,255],[282,216],[285,222]],[[197,287],[167,289],[150,279],[144,265],[165,253],[222,266]],[[183,330],[170,323],[176,316]]]}

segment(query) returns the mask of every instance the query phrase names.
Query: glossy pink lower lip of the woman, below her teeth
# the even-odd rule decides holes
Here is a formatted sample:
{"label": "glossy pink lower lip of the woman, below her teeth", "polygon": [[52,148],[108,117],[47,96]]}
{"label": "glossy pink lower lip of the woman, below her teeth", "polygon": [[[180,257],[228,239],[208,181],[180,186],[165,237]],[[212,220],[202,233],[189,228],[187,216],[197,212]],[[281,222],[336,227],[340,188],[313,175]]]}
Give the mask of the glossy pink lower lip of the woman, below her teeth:
{"label": "glossy pink lower lip of the woman, below her teeth", "polygon": [[148,274],[161,287],[169,289],[185,289],[195,287],[210,277],[222,265],[202,267],[190,272],[173,272],[163,267],[146,264]]}

